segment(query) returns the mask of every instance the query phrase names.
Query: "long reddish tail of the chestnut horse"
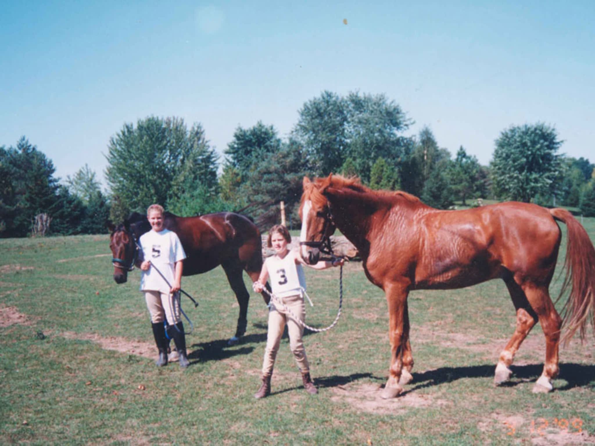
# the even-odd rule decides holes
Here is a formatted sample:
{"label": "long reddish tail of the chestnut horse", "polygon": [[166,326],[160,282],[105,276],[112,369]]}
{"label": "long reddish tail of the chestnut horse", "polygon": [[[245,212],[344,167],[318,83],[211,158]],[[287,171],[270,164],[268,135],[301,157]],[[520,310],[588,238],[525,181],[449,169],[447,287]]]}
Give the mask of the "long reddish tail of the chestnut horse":
{"label": "long reddish tail of the chestnut horse", "polygon": [[[574,216],[565,209],[550,209],[553,218],[566,224],[566,275],[560,296],[570,288],[568,301],[562,309],[563,323],[568,323],[568,331],[563,335],[563,343],[568,343],[577,330],[581,341],[585,339],[587,321],[595,331],[595,247],[587,231]],[[559,299],[559,298],[558,298]]]}

